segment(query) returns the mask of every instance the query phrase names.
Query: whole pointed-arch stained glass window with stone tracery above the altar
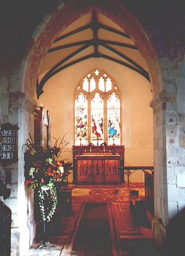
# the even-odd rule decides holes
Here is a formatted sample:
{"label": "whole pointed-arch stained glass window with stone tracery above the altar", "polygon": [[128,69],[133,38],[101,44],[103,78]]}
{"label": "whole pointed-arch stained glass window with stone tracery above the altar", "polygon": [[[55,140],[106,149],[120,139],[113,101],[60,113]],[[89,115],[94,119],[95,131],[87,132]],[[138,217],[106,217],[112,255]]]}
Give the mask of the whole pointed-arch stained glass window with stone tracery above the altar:
{"label": "whole pointed-arch stained glass window with stone tracery above the altar", "polygon": [[121,100],[114,79],[88,72],[75,91],[75,145],[121,145]]}

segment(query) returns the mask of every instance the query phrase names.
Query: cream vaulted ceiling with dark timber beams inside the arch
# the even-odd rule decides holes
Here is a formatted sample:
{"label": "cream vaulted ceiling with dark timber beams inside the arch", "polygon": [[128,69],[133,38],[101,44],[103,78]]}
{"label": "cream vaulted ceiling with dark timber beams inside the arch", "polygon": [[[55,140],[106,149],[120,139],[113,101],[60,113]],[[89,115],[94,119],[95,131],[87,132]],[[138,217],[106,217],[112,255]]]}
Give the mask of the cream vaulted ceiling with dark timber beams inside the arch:
{"label": "cream vaulted ceiling with dark timber beams inside the arch", "polygon": [[38,97],[53,75],[88,58],[108,59],[150,81],[144,59],[129,35],[103,14],[92,11],[64,29],[51,45],[39,72]]}

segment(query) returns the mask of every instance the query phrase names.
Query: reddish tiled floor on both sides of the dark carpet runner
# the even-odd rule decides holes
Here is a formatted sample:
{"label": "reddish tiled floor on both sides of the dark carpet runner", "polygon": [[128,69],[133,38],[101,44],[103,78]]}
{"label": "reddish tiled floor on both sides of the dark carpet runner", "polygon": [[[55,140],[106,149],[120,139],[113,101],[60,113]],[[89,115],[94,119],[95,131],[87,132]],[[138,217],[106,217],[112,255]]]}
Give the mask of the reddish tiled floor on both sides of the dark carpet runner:
{"label": "reddish tiled floor on both sides of the dark carpet runner", "polygon": [[[113,256],[161,256],[162,254],[155,249],[152,243],[150,225],[147,225],[147,221],[138,221],[138,216],[135,216],[131,211],[129,193],[126,193],[125,196],[122,193],[122,186],[105,186],[104,189],[107,189],[107,191],[100,191],[97,187],[89,186],[88,192],[85,190],[85,192],[81,191],[80,193],[78,191],[79,187],[76,186],[77,191],[73,191],[71,212],[64,212],[60,208],[48,226],[50,246],[38,249],[40,237],[36,237],[34,244],[25,256],[80,256],[71,254],[71,248],[87,202],[106,202],[108,204],[111,213],[109,217],[113,218],[110,219],[110,224],[112,223],[115,226],[112,227],[112,229],[115,228],[116,233],[113,236],[116,236],[115,239],[117,239],[118,243],[118,245],[115,245],[115,248],[119,247],[119,250],[115,249],[117,252],[112,253]],[[136,189],[136,187],[138,190],[142,190],[143,184],[133,185],[131,189]],[[87,186],[82,188],[87,189]],[[85,250],[83,255],[89,256],[88,251]]]}

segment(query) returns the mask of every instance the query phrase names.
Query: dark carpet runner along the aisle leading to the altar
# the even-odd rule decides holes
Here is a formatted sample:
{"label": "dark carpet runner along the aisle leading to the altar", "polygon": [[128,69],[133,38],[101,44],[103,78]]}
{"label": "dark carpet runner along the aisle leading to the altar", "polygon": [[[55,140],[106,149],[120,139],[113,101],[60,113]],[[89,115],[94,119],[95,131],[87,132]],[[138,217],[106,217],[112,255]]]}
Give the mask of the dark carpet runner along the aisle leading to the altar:
{"label": "dark carpet runner along the aisle leading to the altar", "polygon": [[85,204],[71,255],[112,255],[107,203]]}

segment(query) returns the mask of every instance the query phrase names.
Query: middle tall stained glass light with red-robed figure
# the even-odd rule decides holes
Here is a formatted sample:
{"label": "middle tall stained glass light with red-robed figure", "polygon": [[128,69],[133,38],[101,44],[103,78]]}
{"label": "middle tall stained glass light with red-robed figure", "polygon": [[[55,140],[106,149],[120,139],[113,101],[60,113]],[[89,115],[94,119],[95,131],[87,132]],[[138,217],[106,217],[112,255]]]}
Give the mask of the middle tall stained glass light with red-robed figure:
{"label": "middle tall stained glass light with red-robed figure", "polygon": [[91,100],[91,142],[95,145],[104,142],[104,100],[99,93]]}

